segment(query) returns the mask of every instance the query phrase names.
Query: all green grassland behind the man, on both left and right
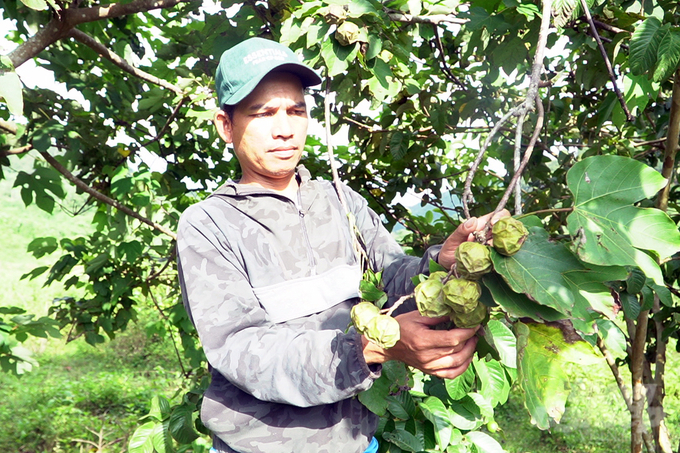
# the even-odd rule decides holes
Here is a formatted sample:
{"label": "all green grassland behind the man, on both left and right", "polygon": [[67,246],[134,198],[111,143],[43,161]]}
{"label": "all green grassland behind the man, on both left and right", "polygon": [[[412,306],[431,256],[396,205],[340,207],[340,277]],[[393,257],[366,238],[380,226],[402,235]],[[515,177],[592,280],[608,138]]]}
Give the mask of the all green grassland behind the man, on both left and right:
{"label": "all green grassland behind the man, on both left and right", "polygon": [[[30,168],[30,156],[16,161]],[[17,167],[14,167],[17,168]],[[11,170],[10,170],[11,171]],[[8,179],[14,175],[8,171]],[[44,315],[58,285],[43,287],[44,278],[20,280],[21,275],[54,256],[36,260],[26,252],[42,236],[72,237],[89,231],[90,213],[73,216],[83,198],[71,191],[50,215],[26,208],[18,189],[0,181],[0,306],[15,305]],[[39,362],[16,377],[0,373],[0,452],[75,453],[124,452],[127,439],[157,394],[178,398],[182,385],[172,344],[147,336],[143,326],[154,313],[142,313],[128,331],[98,347],[82,339],[28,341]],[[680,442],[680,358],[669,346],[666,412],[674,446]],[[531,424],[521,391],[497,409],[501,431],[494,434],[510,453],[611,453],[629,451],[629,415],[611,373],[602,362],[569,370],[571,395],[560,424],[541,431]]]}

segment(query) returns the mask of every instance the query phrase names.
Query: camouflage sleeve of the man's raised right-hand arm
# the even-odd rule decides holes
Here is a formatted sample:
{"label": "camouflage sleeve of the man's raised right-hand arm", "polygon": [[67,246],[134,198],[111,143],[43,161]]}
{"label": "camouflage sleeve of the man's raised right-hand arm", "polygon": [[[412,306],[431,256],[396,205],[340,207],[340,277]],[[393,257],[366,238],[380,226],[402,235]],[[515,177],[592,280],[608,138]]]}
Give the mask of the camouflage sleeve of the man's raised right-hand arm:
{"label": "camouflage sleeve of the man's raised right-hand arm", "polygon": [[[373,270],[383,272],[385,291],[389,296],[388,304],[393,304],[402,296],[411,294],[415,288],[412,277],[429,274],[430,260],[437,261],[440,245],[426,251],[422,257],[409,256],[383,226],[380,217],[368,207],[366,199],[345,186],[350,210],[354,213],[357,228],[366,244],[367,254]],[[405,302],[393,315],[416,309],[415,301]]]}

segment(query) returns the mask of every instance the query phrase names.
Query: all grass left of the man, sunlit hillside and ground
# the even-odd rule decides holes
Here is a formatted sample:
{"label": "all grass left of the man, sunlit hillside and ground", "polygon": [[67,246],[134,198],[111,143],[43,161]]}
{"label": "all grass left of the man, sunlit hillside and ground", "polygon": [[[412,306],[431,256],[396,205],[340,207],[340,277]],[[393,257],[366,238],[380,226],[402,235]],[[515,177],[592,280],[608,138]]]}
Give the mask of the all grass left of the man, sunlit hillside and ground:
{"label": "all grass left of the man, sunlit hillside and ground", "polygon": [[[65,295],[59,284],[43,287],[45,276],[21,280],[56,254],[35,259],[26,247],[35,238],[87,234],[91,212],[73,216],[84,199],[73,190],[49,214],[24,206],[16,171],[30,171],[30,155],[10,156],[0,181],[0,306],[18,306],[37,316]],[[114,340],[94,348],[82,339],[29,339],[25,346],[40,364],[17,377],[0,373],[0,451],[16,453],[123,452],[149,411],[151,398],[168,398],[180,388],[177,361],[169,340],[147,336],[142,326],[154,313],[141,313]]]}

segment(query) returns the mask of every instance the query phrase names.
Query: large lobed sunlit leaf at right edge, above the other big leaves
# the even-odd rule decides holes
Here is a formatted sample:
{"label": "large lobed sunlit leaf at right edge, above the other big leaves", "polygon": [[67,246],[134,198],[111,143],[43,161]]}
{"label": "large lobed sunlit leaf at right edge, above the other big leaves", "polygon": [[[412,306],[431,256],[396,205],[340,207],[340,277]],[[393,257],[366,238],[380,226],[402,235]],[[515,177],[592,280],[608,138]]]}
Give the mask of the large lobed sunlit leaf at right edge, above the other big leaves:
{"label": "large lobed sunlit leaf at right edge, above the other big leaves", "polygon": [[567,217],[579,258],[598,265],[637,266],[657,284],[661,270],[645,252],[666,258],[680,250],[675,223],[661,210],[632,206],[666,184],[654,169],[621,156],[594,156],[567,173],[574,211]]}

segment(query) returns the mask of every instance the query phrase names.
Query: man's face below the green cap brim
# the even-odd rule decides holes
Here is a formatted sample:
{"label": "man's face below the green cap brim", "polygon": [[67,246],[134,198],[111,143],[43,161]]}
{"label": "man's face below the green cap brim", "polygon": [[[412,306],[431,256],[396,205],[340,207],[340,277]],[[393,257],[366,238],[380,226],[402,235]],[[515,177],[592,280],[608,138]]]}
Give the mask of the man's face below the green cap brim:
{"label": "man's face below the green cap brim", "polygon": [[292,183],[307,139],[302,84],[289,73],[268,74],[236,106],[233,120],[216,115],[220,136],[234,145],[242,184],[283,190]]}

